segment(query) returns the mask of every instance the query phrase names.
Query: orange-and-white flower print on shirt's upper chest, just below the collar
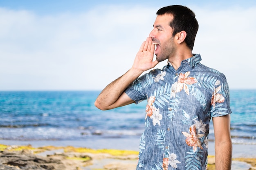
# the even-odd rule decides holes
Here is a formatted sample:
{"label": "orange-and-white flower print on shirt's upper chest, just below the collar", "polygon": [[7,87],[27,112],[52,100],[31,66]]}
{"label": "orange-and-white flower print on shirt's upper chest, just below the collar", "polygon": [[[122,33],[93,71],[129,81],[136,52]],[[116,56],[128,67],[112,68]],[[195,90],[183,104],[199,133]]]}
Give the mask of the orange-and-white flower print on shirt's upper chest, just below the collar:
{"label": "orange-and-white flower print on shirt's upper chest, just below the collar", "polygon": [[192,85],[194,83],[197,83],[197,79],[193,77],[188,77],[190,72],[186,72],[185,74],[180,73],[178,82],[177,82],[177,89],[176,92],[182,91],[182,89],[185,90],[186,94],[189,95],[189,87],[188,85]]}

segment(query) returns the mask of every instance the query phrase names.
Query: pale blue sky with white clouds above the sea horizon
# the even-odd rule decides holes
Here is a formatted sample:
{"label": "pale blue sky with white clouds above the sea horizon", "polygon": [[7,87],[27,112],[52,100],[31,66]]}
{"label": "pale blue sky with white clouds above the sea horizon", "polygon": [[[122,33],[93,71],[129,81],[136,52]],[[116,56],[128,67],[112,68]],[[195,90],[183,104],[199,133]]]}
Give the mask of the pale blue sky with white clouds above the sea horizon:
{"label": "pale blue sky with white clouds above the sea horizon", "polygon": [[231,89],[255,89],[255,0],[0,0],[0,90],[103,89],[131,67],[156,11],[171,4],[195,12],[202,63]]}

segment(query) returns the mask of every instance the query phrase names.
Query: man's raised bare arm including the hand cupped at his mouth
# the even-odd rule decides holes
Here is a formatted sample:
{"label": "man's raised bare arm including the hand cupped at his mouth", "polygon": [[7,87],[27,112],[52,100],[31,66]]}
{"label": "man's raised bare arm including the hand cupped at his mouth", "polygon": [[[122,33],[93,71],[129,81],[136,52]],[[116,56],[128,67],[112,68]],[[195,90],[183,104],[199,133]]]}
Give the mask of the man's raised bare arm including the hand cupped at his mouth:
{"label": "man's raised bare arm including the hand cupped at his mouth", "polygon": [[94,105],[101,110],[113,109],[116,107],[128,105],[132,101],[124,90],[146,70],[154,68],[158,61],[153,61],[155,45],[152,44],[152,39],[147,38],[141,44],[137,53],[132,68],[123,76],[117,78],[110,83],[101,94],[99,94]]}

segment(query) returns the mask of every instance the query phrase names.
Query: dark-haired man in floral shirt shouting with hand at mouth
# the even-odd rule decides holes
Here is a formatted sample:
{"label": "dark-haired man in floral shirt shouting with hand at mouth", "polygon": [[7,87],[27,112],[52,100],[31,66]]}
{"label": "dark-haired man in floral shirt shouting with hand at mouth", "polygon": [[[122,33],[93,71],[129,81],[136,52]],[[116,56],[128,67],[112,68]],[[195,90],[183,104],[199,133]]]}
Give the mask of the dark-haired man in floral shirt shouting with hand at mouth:
{"label": "dark-haired man in floral shirt shouting with hand at mouth", "polygon": [[[153,26],[131,69],[103,89],[95,106],[107,110],[148,100],[137,170],[207,169],[211,118],[216,170],[230,170],[229,87],[222,73],[192,54],[195,14],[179,5],[164,7]],[[139,77],[166,59],[162,70]]]}

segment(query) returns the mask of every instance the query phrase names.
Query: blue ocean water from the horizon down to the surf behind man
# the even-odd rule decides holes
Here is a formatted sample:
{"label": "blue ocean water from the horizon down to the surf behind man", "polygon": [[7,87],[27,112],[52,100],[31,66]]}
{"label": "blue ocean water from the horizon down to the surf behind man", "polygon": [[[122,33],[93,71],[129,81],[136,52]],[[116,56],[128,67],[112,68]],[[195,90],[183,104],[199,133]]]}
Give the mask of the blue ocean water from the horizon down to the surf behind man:
{"label": "blue ocean water from the horizon down to the surf behind man", "polygon": [[[0,92],[0,143],[139,139],[146,101],[108,111],[94,106],[100,92]],[[231,90],[234,144],[256,144],[256,90]],[[211,124],[212,126],[212,124]],[[214,140],[213,127],[209,139]]]}

